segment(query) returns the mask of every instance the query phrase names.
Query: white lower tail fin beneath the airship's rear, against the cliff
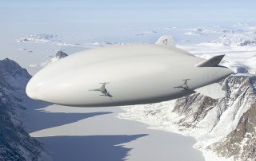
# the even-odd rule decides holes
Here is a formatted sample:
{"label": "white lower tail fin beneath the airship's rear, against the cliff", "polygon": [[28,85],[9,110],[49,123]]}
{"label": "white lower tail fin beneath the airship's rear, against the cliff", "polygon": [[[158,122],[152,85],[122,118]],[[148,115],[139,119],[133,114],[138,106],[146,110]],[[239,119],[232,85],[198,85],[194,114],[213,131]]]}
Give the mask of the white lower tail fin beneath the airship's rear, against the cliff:
{"label": "white lower tail fin beneath the airship's rear, against the cliff", "polygon": [[197,88],[194,91],[199,92],[205,96],[209,96],[213,99],[218,99],[225,96],[225,92],[222,90],[221,85],[218,83],[206,85],[204,87]]}

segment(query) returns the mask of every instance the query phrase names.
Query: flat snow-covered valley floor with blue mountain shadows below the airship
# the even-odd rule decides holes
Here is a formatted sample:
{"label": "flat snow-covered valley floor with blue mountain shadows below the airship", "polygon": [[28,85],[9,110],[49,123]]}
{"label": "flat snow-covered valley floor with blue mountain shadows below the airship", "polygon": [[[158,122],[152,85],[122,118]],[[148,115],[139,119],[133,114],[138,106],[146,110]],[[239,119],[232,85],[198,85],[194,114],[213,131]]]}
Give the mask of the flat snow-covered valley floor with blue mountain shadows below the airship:
{"label": "flat snow-covered valley floor with blue mountain shadows below the airship", "polygon": [[[81,157],[92,160],[204,160],[202,153],[194,149],[192,137],[150,129],[138,121],[119,119],[119,113],[124,112],[119,107],[50,105],[30,112],[29,115],[33,114],[33,126],[36,127],[40,120],[48,124],[48,128],[44,124],[42,129],[30,131],[30,135],[45,144],[53,160]],[[90,113],[96,115],[84,117]],[[54,117],[58,117],[57,122]],[[63,120],[68,121],[62,124]]]}

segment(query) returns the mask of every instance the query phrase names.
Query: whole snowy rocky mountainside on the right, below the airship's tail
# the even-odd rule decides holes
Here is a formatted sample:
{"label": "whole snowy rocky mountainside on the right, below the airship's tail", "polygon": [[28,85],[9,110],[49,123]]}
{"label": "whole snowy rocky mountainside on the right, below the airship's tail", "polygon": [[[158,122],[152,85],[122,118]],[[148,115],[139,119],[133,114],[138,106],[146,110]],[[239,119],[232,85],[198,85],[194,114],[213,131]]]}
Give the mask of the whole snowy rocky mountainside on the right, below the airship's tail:
{"label": "whole snowy rocky mountainside on the right, below the airship's tail", "polygon": [[123,107],[119,117],[150,128],[191,135],[209,160],[256,159],[256,77],[234,75],[221,81],[226,96],[213,100],[194,93],[159,104]]}

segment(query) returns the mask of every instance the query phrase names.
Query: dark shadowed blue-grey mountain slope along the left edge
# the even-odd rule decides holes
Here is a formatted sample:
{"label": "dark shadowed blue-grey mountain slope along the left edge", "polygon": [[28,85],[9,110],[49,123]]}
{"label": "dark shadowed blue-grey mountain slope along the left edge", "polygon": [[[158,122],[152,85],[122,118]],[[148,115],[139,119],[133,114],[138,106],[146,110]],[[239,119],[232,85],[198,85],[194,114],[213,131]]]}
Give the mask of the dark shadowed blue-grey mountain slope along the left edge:
{"label": "dark shadowed blue-grey mountain slope along the left edge", "polygon": [[26,83],[30,74],[16,62],[0,61],[0,160],[49,160],[42,143],[30,137],[22,124]]}

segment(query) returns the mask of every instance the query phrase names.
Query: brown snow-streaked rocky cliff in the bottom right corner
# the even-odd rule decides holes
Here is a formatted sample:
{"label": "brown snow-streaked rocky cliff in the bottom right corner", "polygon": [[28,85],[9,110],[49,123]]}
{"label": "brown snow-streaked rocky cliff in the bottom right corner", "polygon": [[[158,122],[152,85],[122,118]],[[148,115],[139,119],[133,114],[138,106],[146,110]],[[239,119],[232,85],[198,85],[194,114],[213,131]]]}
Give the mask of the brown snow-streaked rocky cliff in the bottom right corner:
{"label": "brown snow-streaked rocky cliff in the bottom right corner", "polygon": [[240,118],[237,128],[207,149],[234,160],[256,160],[255,115],[256,104],[252,104]]}

